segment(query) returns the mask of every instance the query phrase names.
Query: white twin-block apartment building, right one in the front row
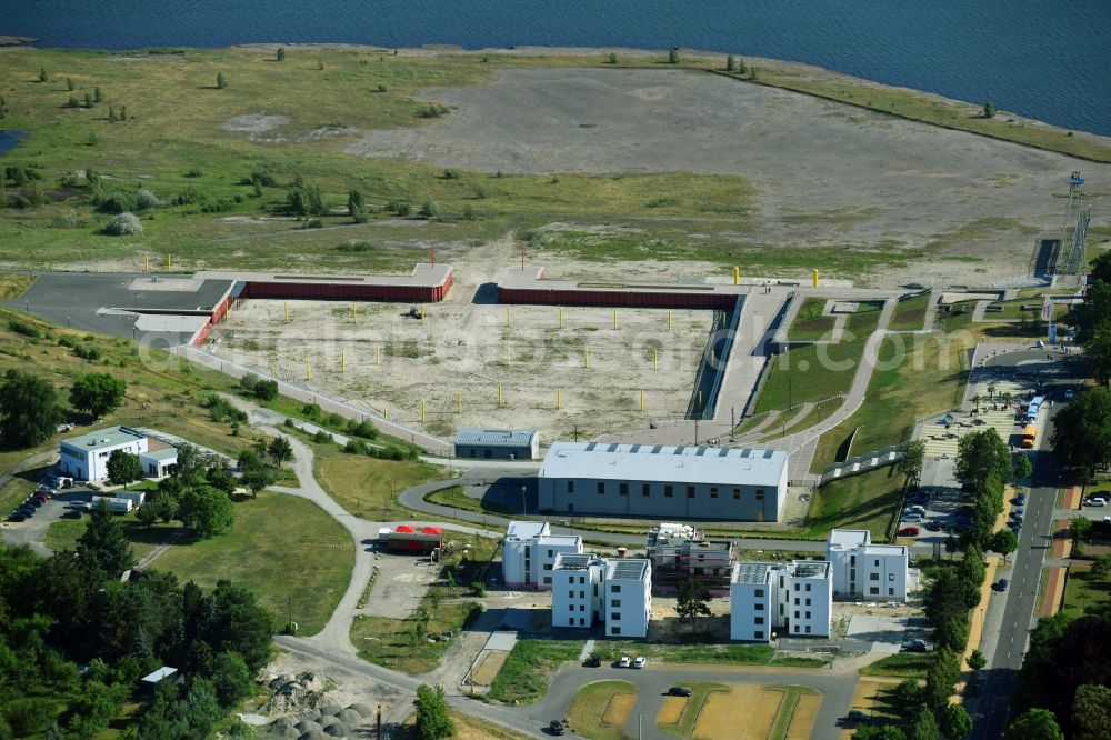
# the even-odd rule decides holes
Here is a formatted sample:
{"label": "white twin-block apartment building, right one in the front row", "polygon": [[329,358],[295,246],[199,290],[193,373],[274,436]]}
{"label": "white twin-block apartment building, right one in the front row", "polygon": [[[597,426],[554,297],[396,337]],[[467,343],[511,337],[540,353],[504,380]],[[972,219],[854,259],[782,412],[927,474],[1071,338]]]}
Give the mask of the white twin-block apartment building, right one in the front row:
{"label": "white twin-block apartment building, right one in the front row", "polygon": [[739,562],[729,588],[729,637],[770,642],[777,636],[829,637],[833,611],[830,563]]}

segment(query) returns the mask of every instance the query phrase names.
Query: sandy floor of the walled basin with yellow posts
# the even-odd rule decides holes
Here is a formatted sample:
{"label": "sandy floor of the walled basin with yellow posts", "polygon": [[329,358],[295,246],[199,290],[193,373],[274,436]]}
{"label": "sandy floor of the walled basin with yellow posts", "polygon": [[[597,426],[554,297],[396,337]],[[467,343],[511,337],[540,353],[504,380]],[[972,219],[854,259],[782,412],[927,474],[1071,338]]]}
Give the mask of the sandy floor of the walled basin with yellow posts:
{"label": "sandy floor of the walled basin with yellow posts", "polygon": [[249,300],[210,347],[390,419],[420,423],[423,401],[424,427],[441,436],[478,426],[550,439],[575,424],[593,434],[681,417],[712,321],[674,311],[668,331],[667,311],[620,309],[613,329],[611,309],[568,308],[561,330],[554,307],[444,302],[423,321],[408,309],[362,303],[352,320],[350,304],[296,301],[286,323],[282,301]]}

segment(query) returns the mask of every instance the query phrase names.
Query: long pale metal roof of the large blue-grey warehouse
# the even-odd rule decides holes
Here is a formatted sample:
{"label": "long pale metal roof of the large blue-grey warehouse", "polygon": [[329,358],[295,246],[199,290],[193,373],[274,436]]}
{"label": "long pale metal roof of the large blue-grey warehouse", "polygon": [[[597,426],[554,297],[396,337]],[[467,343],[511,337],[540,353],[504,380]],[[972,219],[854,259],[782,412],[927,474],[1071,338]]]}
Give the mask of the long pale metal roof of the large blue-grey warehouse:
{"label": "long pale metal roof of the large blue-grey warehouse", "polygon": [[554,442],[540,477],[778,486],[785,469],[783,450]]}

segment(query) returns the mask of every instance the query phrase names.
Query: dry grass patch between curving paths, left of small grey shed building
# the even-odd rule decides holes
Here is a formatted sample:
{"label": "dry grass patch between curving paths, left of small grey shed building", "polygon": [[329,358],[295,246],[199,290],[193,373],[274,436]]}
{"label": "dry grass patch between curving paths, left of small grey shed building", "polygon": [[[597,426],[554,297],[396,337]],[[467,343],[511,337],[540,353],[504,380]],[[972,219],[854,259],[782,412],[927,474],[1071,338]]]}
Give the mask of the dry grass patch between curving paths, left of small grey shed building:
{"label": "dry grass patch between curving paths, left of small grey shed building", "polygon": [[313,472],[320,486],[341,507],[367,519],[389,521],[391,511],[407,511],[397,504],[397,493],[447,474],[427,462],[348,454],[331,444],[314,446],[313,452]]}

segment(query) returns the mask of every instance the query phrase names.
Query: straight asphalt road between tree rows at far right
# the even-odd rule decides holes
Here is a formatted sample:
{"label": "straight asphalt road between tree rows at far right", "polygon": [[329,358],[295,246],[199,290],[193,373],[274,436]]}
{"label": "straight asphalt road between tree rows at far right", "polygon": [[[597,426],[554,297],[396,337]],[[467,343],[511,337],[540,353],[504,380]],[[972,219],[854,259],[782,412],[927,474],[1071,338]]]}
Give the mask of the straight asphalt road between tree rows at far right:
{"label": "straight asphalt road between tree rows at far right", "polygon": [[1042,446],[1034,456],[1037,486],[1027,496],[1025,516],[1019,533],[1019,549],[1013,557],[999,641],[972,718],[972,740],[998,740],[1003,737],[1018,671],[1022,668],[1030,630],[1037,622],[1038,587],[1047,553],[1053,542],[1058,474],[1049,440],[1053,434],[1053,417],[1059,408],[1054,406],[1049,409]]}

